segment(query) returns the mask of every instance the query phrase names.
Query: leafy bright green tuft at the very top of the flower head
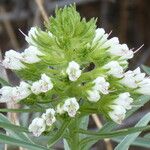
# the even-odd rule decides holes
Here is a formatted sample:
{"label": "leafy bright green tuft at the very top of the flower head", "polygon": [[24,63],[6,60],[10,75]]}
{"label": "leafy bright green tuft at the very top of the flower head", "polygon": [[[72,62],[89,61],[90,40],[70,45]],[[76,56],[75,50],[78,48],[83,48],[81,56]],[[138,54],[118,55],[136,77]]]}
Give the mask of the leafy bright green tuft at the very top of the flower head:
{"label": "leafy bright green tuft at the very top of the flower head", "polygon": [[94,38],[96,19],[86,21],[76,11],[75,5],[56,10],[56,16],[50,17],[46,28],[58,38],[64,50],[80,49]]}

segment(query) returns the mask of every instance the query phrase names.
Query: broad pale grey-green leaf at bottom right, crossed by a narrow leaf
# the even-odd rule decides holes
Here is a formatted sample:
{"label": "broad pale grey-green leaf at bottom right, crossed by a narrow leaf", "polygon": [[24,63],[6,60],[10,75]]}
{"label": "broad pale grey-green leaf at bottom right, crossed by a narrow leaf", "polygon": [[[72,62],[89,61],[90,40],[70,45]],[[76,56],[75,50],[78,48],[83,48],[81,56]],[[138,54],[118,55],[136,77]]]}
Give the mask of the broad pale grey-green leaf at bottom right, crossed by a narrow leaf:
{"label": "broad pale grey-green leaf at bottom right, crossed by a narrow leaf", "polygon": [[[149,123],[150,121],[150,113],[146,114],[137,124],[135,127],[140,127],[140,126],[145,126]],[[120,144],[117,145],[115,150],[126,150],[129,148],[129,146],[133,143],[133,141],[139,136],[141,132],[132,134],[132,135],[127,135],[121,142]]]}

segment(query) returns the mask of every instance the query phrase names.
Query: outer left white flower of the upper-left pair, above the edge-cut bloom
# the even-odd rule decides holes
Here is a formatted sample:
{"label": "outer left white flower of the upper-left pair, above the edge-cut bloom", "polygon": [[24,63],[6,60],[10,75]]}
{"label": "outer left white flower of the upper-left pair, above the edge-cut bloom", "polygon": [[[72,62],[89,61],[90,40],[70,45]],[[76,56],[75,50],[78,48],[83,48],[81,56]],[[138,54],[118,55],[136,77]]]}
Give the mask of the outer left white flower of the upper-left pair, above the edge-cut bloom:
{"label": "outer left white flower of the upper-left pair, above the edge-cut bloom", "polygon": [[12,70],[21,70],[25,66],[21,63],[22,56],[20,53],[9,50],[5,53],[5,58],[3,60],[3,66]]}

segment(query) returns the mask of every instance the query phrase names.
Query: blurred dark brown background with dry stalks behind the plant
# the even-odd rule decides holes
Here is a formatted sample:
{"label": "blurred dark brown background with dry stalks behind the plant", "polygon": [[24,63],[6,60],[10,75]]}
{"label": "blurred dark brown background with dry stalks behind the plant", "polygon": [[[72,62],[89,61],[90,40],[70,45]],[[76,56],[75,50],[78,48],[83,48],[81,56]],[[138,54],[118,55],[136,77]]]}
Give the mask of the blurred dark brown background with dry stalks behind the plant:
{"label": "blurred dark brown background with dry stalks behind the plant", "polygon": [[[32,26],[43,28],[44,13],[51,16],[56,6],[64,7],[71,3],[76,3],[77,10],[87,20],[92,17],[98,18],[98,27],[104,28],[108,33],[112,31],[111,36],[119,37],[120,42],[127,43],[129,48],[136,50],[144,44],[130,61],[130,69],[135,69],[141,64],[150,66],[150,0],[0,0],[1,55],[9,49],[23,50],[27,47],[19,29],[27,34]],[[1,66],[0,69],[0,76],[5,76],[6,72]],[[18,83],[18,78],[11,71],[7,71],[7,75],[12,84]],[[144,106],[132,118],[126,120],[124,126],[135,124],[149,108],[148,104]],[[96,127],[92,119],[89,127]],[[115,145],[116,143],[112,142],[112,147]],[[57,149],[61,149],[61,144]],[[99,142],[93,147],[93,150],[100,149],[111,150],[104,142]],[[144,150],[138,147],[131,149]]]}

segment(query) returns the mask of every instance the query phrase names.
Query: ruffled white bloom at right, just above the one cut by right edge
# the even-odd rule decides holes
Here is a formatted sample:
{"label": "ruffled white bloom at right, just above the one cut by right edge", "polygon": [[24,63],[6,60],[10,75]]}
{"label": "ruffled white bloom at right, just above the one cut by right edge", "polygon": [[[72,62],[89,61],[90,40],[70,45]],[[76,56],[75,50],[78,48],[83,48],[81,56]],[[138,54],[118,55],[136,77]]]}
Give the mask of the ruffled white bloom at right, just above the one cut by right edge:
{"label": "ruffled white bloom at right, just above the one cut by right edge", "polygon": [[134,71],[127,71],[124,74],[123,79],[120,81],[123,85],[130,88],[137,88],[139,83],[145,78],[145,73],[141,73],[140,68],[138,67]]}

